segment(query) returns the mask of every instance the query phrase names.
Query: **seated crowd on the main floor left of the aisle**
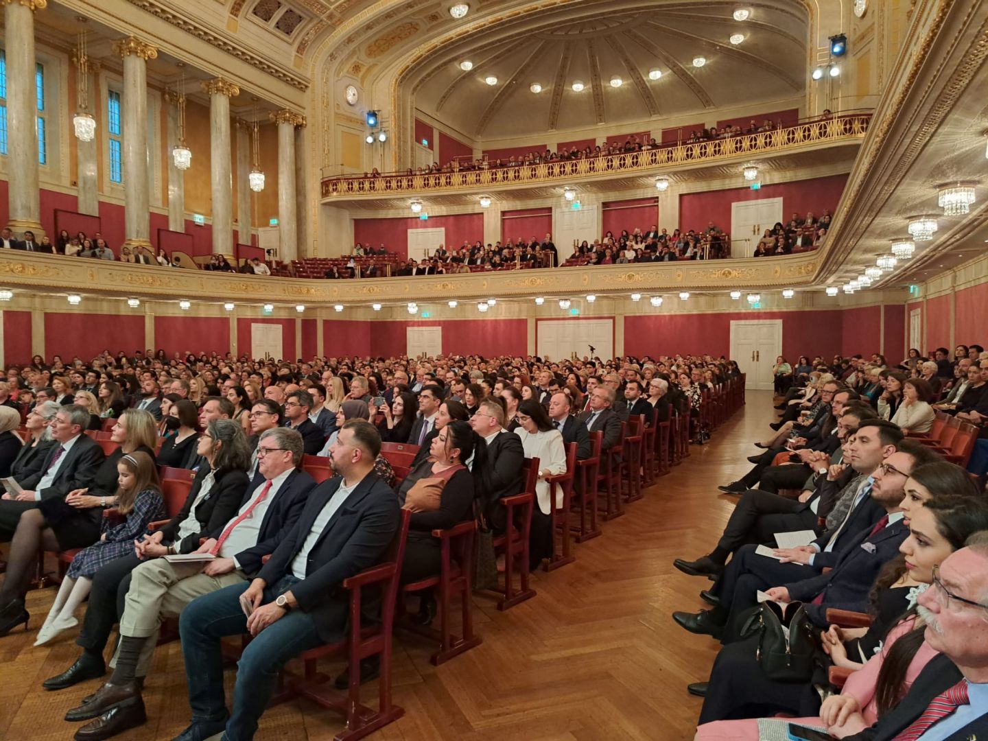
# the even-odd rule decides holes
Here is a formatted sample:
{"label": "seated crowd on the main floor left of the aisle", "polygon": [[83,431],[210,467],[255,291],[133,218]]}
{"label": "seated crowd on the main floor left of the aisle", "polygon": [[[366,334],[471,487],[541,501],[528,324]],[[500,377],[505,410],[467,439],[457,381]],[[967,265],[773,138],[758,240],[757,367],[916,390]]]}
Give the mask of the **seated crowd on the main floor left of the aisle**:
{"label": "seated crowd on the main floor left of the aisle", "polygon": [[[629,415],[696,415],[702,389],[739,375],[733,362],[680,356],[288,364],[148,350],[68,365],[36,356],[0,381],[0,476],[13,480],[0,498],[0,542],[9,542],[0,636],[28,624],[39,551],[75,551],[35,645],[78,626],[88,599],[82,650],[44,688],[105,677],[119,624],[109,679],[65,716],[88,721],[75,738],[110,738],[146,720],[142,690],[169,618],[180,621],[193,716],[180,738],[251,738],[286,662],[346,634],[337,588],[382,558],[401,509],[412,513],[407,584],[439,573],[434,530],[478,518],[505,531],[498,503],[522,493],[524,462],[537,457],[535,567],[553,550],[551,503],[561,493],[551,477],[566,473],[567,444],[584,459],[594,432],[617,446]],[[109,445],[87,434],[100,429]],[[418,447],[400,481],[385,442]],[[323,483],[302,465],[306,455],[328,458]],[[159,469],[174,468],[194,478],[170,513]],[[436,598],[419,594],[411,620],[427,625]],[[254,639],[230,712],[219,640],[244,633]],[[360,670],[372,679],[377,659]],[[345,689],[348,672],[335,684]]]}

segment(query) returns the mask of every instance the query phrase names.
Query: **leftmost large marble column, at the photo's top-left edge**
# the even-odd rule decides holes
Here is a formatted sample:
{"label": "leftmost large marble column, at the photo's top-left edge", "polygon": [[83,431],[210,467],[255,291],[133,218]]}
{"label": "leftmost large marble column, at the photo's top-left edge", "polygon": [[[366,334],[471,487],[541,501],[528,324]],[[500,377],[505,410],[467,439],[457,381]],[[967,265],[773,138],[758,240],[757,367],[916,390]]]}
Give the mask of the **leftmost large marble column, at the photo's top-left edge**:
{"label": "leftmost large marble column, at the photo's top-left edge", "polygon": [[[41,239],[38,186],[38,98],[35,87],[35,11],[47,0],[0,0],[7,39],[7,177],[9,225],[18,235],[26,229]],[[52,126],[52,130],[54,127]]]}

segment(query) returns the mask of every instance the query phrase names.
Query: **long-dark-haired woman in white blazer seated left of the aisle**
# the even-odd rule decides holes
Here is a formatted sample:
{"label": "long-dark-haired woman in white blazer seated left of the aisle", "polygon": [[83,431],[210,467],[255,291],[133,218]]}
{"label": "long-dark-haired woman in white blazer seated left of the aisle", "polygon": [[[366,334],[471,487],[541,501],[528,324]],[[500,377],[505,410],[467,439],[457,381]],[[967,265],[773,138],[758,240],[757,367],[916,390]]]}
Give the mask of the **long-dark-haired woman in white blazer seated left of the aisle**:
{"label": "long-dark-haired woman in white blazer seated left of the aisle", "polygon": [[[550,484],[546,476],[566,472],[566,446],[562,433],[549,419],[545,407],[535,399],[518,405],[515,415],[520,425],[515,434],[522,439],[525,457],[538,458],[538,480],[535,482],[535,503],[532,509],[532,530],[529,536],[529,561],[535,569],[543,558],[552,555],[552,508]],[[562,489],[555,487],[556,506],[562,506]]]}

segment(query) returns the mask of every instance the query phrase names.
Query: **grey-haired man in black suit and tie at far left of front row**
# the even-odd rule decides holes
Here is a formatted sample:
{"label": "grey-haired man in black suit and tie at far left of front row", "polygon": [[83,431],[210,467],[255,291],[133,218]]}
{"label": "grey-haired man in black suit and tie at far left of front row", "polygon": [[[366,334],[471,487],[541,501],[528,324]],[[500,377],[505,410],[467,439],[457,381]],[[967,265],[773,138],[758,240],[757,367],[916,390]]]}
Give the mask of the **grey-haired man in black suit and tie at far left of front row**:
{"label": "grey-haired man in black suit and tie at far left of front row", "polygon": [[106,455],[85,435],[89,421],[89,411],[76,404],[66,404],[55,414],[49,429],[58,445],[48,451],[39,470],[15,479],[24,490],[21,494],[6,493],[0,501],[0,542],[10,540],[22,513],[42,500],[64,500],[70,491],[92,485]]}

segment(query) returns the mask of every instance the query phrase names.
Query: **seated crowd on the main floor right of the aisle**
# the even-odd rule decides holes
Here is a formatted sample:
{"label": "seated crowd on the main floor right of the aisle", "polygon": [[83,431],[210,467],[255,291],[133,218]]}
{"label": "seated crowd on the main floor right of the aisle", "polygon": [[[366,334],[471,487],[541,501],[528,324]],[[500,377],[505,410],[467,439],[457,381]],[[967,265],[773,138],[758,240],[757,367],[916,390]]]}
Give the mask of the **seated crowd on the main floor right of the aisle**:
{"label": "seated crowd on the main floor right of the aisle", "polygon": [[[713,584],[708,609],[672,617],[722,644],[688,688],[703,698],[698,739],[988,729],[988,495],[928,436],[937,407],[982,421],[988,355],[932,355],[896,369],[878,354],[778,359],[795,383],[752,470],[719,487],[740,497],[720,539],[674,561]],[[931,406],[945,382],[971,395]]]}

